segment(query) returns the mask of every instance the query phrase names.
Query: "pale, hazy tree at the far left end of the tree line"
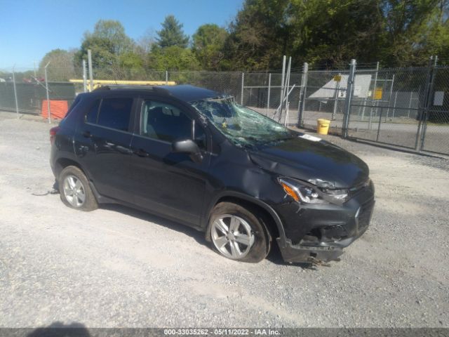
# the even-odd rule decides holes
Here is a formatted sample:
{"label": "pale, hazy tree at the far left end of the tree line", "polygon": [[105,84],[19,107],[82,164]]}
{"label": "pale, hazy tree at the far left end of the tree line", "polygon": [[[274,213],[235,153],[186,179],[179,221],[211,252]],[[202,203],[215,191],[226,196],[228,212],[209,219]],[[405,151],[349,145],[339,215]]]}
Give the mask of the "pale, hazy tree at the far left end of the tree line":
{"label": "pale, hazy tree at the far left end of the tree line", "polygon": [[74,51],[53,49],[53,51],[46,53],[39,63],[40,74],[43,74],[43,68],[48,62],[50,62],[47,67],[49,81],[68,81],[75,77]]}

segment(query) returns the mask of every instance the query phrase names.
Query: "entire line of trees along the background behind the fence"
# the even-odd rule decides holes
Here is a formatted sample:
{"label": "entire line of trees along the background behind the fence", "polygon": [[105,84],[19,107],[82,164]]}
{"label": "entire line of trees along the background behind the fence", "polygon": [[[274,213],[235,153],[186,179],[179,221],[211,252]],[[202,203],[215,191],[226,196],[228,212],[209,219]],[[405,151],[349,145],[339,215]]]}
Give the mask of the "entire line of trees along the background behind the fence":
{"label": "entire line of trees along the background behind the fence", "polygon": [[293,69],[379,61],[382,67],[449,60],[449,0],[246,0],[227,27],[201,25],[192,37],[168,15],[156,35],[134,41],[119,21],[99,20],[72,51],[55,49],[49,77],[79,77],[91,49],[96,78],[145,79],[149,70],[269,71],[282,55]]}

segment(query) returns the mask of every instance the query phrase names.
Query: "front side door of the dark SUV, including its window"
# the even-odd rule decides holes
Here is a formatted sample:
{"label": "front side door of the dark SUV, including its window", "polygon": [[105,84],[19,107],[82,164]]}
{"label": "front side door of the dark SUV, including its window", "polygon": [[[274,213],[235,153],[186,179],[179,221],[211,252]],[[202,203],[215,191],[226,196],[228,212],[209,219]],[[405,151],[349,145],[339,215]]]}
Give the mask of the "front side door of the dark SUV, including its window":
{"label": "front side door of the dark SUV, including its window", "polygon": [[[198,226],[210,159],[205,130],[188,108],[170,100],[143,98],[139,109],[139,131],[131,143],[135,204]],[[181,139],[194,139],[201,162],[172,152],[172,142]]]}

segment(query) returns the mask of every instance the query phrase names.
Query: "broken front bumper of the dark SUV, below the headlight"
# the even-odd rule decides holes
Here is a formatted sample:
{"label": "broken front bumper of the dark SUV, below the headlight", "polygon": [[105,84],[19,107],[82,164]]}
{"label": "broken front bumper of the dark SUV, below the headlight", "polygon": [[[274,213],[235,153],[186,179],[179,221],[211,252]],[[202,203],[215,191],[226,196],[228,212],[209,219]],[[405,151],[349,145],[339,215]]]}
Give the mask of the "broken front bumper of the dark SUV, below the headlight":
{"label": "broken front bumper of the dark SUV, below the headlight", "polygon": [[374,186],[371,183],[342,206],[279,205],[286,239],[277,239],[288,263],[337,260],[343,249],[366,232],[373,216]]}

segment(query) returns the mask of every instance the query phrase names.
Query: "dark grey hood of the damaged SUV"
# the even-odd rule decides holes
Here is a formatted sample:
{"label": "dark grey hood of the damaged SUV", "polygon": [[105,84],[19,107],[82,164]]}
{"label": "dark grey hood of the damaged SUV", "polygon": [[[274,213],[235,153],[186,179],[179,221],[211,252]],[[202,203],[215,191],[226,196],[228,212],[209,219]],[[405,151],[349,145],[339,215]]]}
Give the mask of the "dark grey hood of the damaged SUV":
{"label": "dark grey hood of the damaged SUV", "polygon": [[262,169],[322,187],[326,183],[330,188],[354,187],[369,175],[368,165],[354,154],[307,135],[250,150],[249,154]]}

